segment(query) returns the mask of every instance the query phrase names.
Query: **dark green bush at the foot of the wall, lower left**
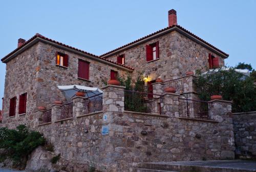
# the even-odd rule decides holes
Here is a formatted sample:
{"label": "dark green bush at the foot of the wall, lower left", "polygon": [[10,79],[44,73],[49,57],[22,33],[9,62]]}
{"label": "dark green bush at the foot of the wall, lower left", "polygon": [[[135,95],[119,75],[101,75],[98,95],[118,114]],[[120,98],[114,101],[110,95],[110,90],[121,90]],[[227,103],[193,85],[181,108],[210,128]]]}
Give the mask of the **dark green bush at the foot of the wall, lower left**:
{"label": "dark green bush at the foot of the wall, lower left", "polygon": [[15,163],[19,163],[39,145],[45,143],[45,138],[35,131],[29,131],[25,125],[19,125],[16,130],[7,127],[0,128],[0,148]]}

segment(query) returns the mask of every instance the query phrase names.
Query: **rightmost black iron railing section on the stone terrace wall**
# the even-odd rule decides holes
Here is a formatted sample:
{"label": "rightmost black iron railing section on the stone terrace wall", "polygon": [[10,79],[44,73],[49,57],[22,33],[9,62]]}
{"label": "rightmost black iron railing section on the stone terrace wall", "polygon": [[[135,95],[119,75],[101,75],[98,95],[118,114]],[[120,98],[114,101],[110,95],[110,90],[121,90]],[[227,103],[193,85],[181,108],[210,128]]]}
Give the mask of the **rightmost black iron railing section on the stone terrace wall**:
{"label": "rightmost black iron railing section on the stone terrace wall", "polygon": [[207,101],[179,98],[179,116],[186,118],[210,119]]}

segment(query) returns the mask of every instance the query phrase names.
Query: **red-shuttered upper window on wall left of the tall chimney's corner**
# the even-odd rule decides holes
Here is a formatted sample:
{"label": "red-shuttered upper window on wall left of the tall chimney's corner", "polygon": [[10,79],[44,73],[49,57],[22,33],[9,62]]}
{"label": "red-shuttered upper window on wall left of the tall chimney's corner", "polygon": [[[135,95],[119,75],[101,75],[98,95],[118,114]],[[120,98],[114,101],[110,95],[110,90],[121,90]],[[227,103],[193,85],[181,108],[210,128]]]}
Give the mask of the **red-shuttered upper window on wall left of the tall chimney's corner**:
{"label": "red-shuttered upper window on wall left of the tall chimney's corner", "polygon": [[159,59],[159,42],[146,45],[146,60],[152,61]]}

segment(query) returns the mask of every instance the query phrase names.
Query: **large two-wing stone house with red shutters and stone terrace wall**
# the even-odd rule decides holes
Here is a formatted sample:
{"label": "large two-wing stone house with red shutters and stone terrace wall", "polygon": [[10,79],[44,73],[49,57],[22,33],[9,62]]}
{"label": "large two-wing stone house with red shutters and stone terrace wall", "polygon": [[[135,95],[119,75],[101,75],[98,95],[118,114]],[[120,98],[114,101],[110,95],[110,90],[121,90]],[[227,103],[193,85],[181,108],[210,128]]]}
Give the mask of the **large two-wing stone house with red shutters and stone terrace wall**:
{"label": "large two-wing stone house with red shutters and stone terrace wall", "polygon": [[[180,105],[184,104],[179,101],[181,94],[196,95],[195,76],[184,76],[186,72],[223,66],[227,57],[228,54],[177,25],[175,10],[168,12],[167,28],[100,56],[40,34],[27,41],[18,39],[18,48],[2,58],[6,63],[2,125],[26,124],[44,133],[63,156],[62,165],[68,160],[94,164],[106,171],[128,171],[139,161],[232,159],[230,102],[204,102],[211,108],[207,119],[186,121],[188,116],[179,116]],[[117,73],[130,73],[135,81],[141,71],[147,89],[150,88],[143,101],[156,99],[156,111],[127,111],[124,88],[104,86],[103,81],[115,79]],[[156,82],[157,78],[164,83]],[[176,94],[166,94],[164,88],[168,83],[181,89]],[[85,113],[87,100],[74,97],[69,118],[59,118],[66,106],[53,103],[66,99],[57,85],[71,84],[101,88],[100,111]],[[194,100],[190,101],[194,105]],[[38,106],[49,111],[37,111]],[[192,111],[196,112],[194,107]],[[205,112],[200,114],[202,117]],[[49,120],[39,121],[46,115]]]}

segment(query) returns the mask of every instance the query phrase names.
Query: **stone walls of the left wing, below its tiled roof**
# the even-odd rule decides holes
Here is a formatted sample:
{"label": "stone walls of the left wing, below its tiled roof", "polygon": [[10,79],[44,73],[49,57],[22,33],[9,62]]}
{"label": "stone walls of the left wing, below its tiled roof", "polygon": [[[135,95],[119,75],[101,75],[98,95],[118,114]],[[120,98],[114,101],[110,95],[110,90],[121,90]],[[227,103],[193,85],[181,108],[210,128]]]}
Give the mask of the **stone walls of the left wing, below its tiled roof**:
{"label": "stone walls of the left wing, below its tiled roof", "polygon": [[[68,68],[56,66],[56,52],[69,55]],[[78,79],[78,59],[90,62],[89,80]],[[26,124],[35,127],[34,112],[38,106],[51,109],[54,100],[66,101],[57,85],[78,84],[87,87],[102,87],[102,80],[110,79],[110,71],[125,75],[127,71],[93,59],[38,42],[6,65],[3,126],[16,127]],[[27,93],[26,114],[18,115],[19,95]],[[10,98],[16,96],[16,115],[9,117]]]}

